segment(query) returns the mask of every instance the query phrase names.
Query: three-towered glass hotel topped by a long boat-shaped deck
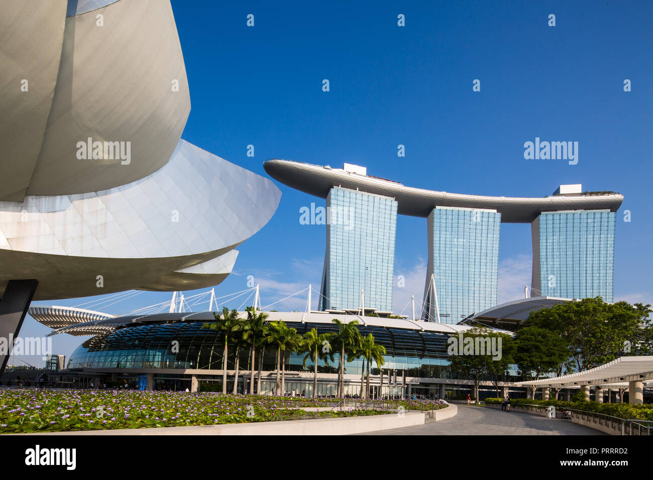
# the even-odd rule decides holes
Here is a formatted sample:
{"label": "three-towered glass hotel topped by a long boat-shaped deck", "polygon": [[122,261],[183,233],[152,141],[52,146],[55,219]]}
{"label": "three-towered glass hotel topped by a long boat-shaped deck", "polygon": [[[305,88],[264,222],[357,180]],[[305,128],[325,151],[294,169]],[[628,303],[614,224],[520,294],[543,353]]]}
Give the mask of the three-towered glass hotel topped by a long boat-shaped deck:
{"label": "three-towered glass hotel topped by a long boat-shaped deck", "polygon": [[428,219],[425,321],[458,323],[497,304],[502,222],[531,225],[531,296],[613,301],[614,227],[624,200],[618,193],[560,185],[543,198],[486,197],[406,187],[347,163],[274,159],[264,168],[285,185],[327,199],[320,310],[392,311],[398,214]]}

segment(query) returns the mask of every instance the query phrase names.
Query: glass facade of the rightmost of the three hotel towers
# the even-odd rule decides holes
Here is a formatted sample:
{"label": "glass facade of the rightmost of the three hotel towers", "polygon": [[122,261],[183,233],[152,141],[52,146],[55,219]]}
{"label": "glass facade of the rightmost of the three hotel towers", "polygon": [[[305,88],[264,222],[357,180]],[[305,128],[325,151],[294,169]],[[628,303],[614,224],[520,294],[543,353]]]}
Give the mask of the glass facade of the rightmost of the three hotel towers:
{"label": "glass facade of the rightmost of the three hotel towers", "polygon": [[543,212],[532,224],[532,285],[541,295],[613,302],[614,224],[609,210]]}

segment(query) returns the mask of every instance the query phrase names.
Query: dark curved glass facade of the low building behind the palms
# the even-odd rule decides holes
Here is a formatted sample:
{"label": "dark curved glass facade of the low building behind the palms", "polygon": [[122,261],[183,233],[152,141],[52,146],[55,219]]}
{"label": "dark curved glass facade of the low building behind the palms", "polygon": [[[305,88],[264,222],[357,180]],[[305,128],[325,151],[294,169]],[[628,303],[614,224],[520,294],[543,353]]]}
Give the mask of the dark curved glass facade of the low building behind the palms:
{"label": "dark curved glass facade of the low building behind the palms", "polygon": [[[77,347],[71,355],[68,368],[157,368],[157,369],[199,369],[221,370],[223,362],[223,336],[214,330],[202,328],[203,323],[155,323],[121,328],[107,335],[87,340]],[[335,332],[337,325],[332,323],[287,322],[288,327],[296,328],[304,334],[315,328],[318,334]],[[406,376],[424,378],[451,378],[449,356],[447,355],[448,334],[421,332],[420,330],[386,327],[358,326],[360,333],[374,335],[377,344],[386,348],[383,370],[406,370]],[[173,342],[179,342],[173,351]],[[285,370],[289,372],[312,372],[313,363],[309,360],[304,368],[306,353],[287,355]],[[249,347],[238,353],[240,370],[249,370],[251,351]],[[332,364],[323,360],[318,362],[318,372],[337,373],[338,355]],[[255,360],[258,368],[258,359]],[[276,350],[266,350],[263,356],[263,370],[276,368]],[[227,369],[233,370],[236,353],[230,346],[227,353]],[[361,374],[362,360],[345,362],[346,374]],[[373,362],[371,372],[379,374]],[[455,376],[454,376],[455,377]]]}

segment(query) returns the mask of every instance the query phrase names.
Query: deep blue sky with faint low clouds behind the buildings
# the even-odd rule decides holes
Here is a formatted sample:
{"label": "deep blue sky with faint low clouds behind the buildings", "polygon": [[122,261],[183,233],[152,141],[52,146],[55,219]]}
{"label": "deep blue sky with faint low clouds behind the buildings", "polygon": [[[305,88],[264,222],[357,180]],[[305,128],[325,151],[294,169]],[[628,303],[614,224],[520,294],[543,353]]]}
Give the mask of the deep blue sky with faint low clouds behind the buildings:
{"label": "deep blue sky with faint low clouds behind the buildings", "polygon": [[[264,161],[284,158],[355,163],[374,176],[455,193],[543,197],[560,184],[618,191],[625,200],[617,214],[615,298],[653,303],[650,1],[172,0],[172,8],[191,95],[185,140],[264,176]],[[536,136],[579,142],[578,164],[524,159],[524,142]],[[399,144],[406,157],[397,156]],[[319,289],[325,227],[300,225],[299,209],[325,200],[279,188],[278,211],[238,248],[217,295],[245,289],[249,275],[261,284],[263,306],[308,283]],[[421,299],[426,255],[426,219],[400,217],[395,276],[404,275],[406,287],[395,282],[397,312],[411,294]],[[530,226],[503,223],[498,302],[522,295],[531,257]],[[141,293],[106,311],[169,298]],[[305,303],[302,294],[273,308]],[[28,317],[21,334],[49,331]],[[68,357],[81,340],[56,336],[54,351]]]}

